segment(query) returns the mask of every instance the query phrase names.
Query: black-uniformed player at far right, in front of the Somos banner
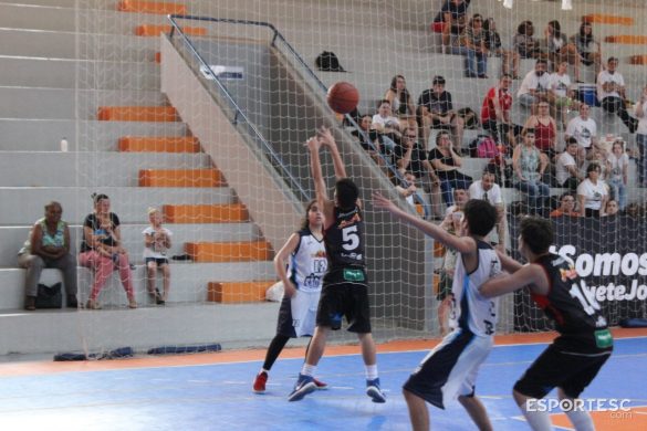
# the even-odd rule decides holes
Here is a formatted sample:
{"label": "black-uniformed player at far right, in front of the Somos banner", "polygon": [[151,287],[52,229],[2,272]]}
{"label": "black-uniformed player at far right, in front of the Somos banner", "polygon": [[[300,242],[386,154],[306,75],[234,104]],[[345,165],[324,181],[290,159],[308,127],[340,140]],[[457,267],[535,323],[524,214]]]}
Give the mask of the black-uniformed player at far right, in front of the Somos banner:
{"label": "black-uniformed player at far right, in front of the Somos banner", "polygon": [[[557,388],[561,400],[574,406],[566,416],[576,430],[593,430],[593,420],[577,402],[584,388],[595,378],[613,350],[613,337],[594,296],[582,287],[573,262],[551,253],[554,231],[551,221],[525,218],[520,224],[519,251],[529,262],[522,265],[500,255],[510,275],[481,286],[487,297],[503,295],[529,286],[530,294],[560,334],[514,385],[514,400],[533,430],[552,429],[545,409],[536,400]],[[566,404],[566,403],[563,403]]]}

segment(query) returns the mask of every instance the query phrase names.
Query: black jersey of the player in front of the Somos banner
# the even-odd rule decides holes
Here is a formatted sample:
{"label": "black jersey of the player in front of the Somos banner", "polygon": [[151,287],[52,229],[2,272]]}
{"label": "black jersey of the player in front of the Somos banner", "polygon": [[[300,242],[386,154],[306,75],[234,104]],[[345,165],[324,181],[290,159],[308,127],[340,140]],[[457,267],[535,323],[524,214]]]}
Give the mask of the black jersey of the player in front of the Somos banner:
{"label": "black jersey of the player in front of the Somos banner", "polygon": [[555,329],[573,351],[611,350],[613,338],[595,294],[583,285],[573,262],[554,253],[538,259],[549,278],[549,294],[531,293],[536,305],[555,322]]}

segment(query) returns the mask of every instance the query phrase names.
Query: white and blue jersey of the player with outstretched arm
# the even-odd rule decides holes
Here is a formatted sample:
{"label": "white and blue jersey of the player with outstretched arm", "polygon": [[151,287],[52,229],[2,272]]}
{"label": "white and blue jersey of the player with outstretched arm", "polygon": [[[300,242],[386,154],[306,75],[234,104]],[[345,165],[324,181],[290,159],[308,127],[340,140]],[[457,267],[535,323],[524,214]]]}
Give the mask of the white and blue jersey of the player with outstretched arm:
{"label": "white and blue jersey of the player with outstretched arm", "polygon": [[501,273],[501,261],[490,244],[480,240],[476,241],[479,257],[477,269],[468,274],[462,256],[456,262],[449,326],[469,330],[477,336],[493,336],[499,298],[483,297],[479,288],[486,281]]}

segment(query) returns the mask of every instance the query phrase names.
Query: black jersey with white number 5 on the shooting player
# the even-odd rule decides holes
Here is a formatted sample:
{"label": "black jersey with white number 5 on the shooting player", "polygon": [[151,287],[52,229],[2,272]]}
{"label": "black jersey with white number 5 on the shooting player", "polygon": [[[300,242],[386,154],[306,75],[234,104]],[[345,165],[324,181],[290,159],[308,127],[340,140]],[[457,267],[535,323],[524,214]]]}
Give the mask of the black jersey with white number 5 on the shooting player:
{"label": "black jersey with white number 5 on the shooting player", "polygon": [[364,221],[359,207],[334,209],[334,222],[324,231],[328,273],[336,270],[364,269]]}

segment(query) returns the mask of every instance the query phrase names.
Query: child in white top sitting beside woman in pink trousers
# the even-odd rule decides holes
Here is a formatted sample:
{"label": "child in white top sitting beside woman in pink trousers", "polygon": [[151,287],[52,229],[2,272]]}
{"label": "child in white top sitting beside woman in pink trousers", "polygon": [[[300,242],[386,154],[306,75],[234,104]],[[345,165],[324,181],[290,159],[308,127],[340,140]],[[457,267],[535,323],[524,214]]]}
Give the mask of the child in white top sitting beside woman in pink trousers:
{"label": "child in white top sitting beside woman in pink trousers", "polygon": [[[156,208],[148,209],[150,225],[142,232],[144,234],[144,261],[146,262],[146,274],[148,275],[148,294],[153,296],[157,305],[164,305],[168,299],[170,290],[170,269],[166,252],[170,248],[173,233],[161,227],[161,212]],[[164,294],[155,287],[157,269],[161,270],[164,276]]]}

